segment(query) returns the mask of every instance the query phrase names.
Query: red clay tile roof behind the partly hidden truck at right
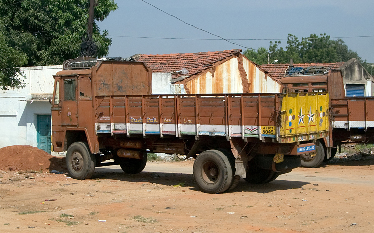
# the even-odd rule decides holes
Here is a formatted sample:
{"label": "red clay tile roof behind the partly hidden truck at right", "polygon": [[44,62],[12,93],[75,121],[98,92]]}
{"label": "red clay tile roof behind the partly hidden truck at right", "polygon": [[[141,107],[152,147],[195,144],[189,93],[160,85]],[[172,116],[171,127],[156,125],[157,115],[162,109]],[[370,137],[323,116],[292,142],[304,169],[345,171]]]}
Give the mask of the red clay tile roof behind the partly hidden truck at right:
{"label": "red clay tile roof behind the partly hidden truck at right", "polygon": [[[333,70],[339,69],[344,62],[335,62],[335,63],[299,63],[293,64],[294,67],[309,67],[309,66],[324,66],[327,68],[331,68]],[[285,72],[288,69],[289,64],[263,64],[260,65],[260,68],[265,70],[272,76],[273,79],[276,81],[281,81],[281,78],[285,76]]]}

